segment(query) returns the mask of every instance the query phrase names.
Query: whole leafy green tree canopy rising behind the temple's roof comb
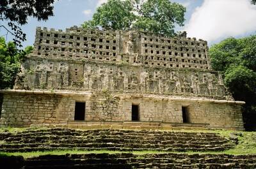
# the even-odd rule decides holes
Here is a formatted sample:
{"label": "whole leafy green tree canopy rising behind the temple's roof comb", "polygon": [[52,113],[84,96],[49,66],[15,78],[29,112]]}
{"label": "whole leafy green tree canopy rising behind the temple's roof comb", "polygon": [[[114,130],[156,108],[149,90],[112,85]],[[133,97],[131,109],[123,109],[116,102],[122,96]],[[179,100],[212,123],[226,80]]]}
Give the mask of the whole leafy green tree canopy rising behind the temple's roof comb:
{"label": "whole leafy green tree canopy rising behind the temple's roof comb", "polygon": [[186,8],[169,0],[108,0],[93,14],[84,28],[135,28],[174,36],[175,24],[183,26]]}

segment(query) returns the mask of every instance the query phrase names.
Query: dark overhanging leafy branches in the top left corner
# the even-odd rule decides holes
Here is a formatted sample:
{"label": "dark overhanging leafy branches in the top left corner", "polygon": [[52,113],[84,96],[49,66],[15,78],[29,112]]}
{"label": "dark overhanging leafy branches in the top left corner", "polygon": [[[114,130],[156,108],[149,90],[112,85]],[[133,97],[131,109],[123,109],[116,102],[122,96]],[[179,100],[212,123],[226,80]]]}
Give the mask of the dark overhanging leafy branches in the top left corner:
{"label": "dark overhanging leafy branches in the top left corner", "polygon": [[[28,17],[47,20],[53,15],[53,3],[54,0],[1,0],[0,27],[6,29],[6,34],[14,36],[15,45],[22,47],[21,42],[26,40],[26,34],[22,32],[20,26],[27,24]],[[8,26],[4,26],[4,20],[8,22]]]}

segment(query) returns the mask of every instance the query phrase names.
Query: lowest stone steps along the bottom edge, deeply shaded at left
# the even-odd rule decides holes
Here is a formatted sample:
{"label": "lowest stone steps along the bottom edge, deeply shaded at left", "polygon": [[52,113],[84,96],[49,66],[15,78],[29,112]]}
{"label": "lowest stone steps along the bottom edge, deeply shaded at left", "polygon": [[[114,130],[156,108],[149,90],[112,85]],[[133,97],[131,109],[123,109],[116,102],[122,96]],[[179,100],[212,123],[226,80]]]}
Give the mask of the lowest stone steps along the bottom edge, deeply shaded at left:
{"label": "lowest stone steps along the bottom edge, deeply shaded at left", "polygon": [[[4,164],[4,165],[1,165]],[[24,159],[1,157],[0,165],[12,169],[81,168],[256,168],[256,155],[227,154],[65,154]],[[4,168],[3,168],[4,169]]]}

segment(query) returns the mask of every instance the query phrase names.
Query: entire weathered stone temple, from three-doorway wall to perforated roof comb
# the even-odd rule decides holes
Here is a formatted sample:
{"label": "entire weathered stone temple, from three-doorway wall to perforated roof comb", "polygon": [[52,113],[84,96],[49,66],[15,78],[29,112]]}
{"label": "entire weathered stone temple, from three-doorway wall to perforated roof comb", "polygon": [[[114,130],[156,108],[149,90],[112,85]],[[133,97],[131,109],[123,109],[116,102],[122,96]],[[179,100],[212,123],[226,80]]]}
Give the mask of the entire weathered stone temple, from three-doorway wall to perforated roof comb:
{"label": "entire weathered stone temple, from three-doorway wall to perforated roof comb", "polygon": [[157,124],[243,130],[207,41],[143,31],[36,28],[1,126]]}

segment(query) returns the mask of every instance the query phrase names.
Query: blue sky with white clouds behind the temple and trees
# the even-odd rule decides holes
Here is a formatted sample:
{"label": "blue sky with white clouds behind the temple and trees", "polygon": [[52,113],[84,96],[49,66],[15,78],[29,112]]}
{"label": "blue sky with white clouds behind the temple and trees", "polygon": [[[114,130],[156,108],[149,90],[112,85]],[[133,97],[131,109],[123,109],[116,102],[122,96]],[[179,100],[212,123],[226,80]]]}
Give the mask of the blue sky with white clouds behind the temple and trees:
{"label": "blue sky with white clouds behind the temple and trees", "polygon": [[[23,45],[33,45],[37,26],[65,29],[80,26],[90,20],[97,6],[106,0],[59,0],[54,3],[54,16],[46,22],[29,18],[28,24],[22,26],[27,34]],[[256,5],[250,0],[174,0],[186,6],[186,22],[177,31],[187,31],[188,36],[202,38],[209,44],[234,36],[240,38],[256,34]],[[2,36],[4,30],[0,30]],[[8,37],[12,40],[12,37]]]}

